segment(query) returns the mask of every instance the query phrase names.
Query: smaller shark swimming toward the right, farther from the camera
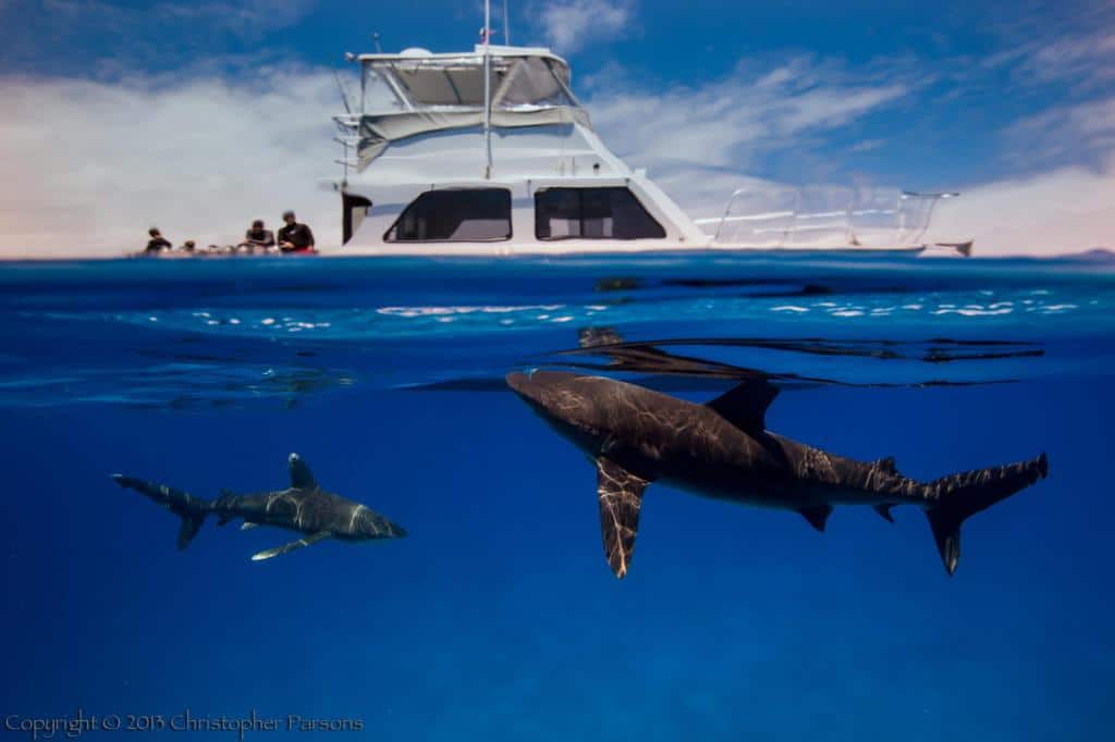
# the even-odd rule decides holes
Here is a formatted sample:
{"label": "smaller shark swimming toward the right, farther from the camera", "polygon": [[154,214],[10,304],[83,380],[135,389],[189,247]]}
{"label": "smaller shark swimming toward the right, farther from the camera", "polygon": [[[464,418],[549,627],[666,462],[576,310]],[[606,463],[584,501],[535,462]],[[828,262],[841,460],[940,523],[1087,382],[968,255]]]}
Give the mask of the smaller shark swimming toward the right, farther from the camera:
{"label": "smaller shark swimming toward the right, farther from the camera", "polygon": [[180,549],[190,546],[210,515],[216,516],[219,526],[243,518],[241,529],[244,530],[256,526],[274,526],[306,534],[289,544],[255,554],[252,562],[270,559],[327,538],[367,541],[407,535],[400,526],[368,506],[321,489],[310,467],[298,453],[290,455],[287,466],[290,470],[290,487],[287,489],[255,495],[236,495],[222,490],[215,500],[194,497],[181,489],[124,475],[113,475],[113,479],[120,487],[134,489],[182,518],[182,527],[178,529]]}

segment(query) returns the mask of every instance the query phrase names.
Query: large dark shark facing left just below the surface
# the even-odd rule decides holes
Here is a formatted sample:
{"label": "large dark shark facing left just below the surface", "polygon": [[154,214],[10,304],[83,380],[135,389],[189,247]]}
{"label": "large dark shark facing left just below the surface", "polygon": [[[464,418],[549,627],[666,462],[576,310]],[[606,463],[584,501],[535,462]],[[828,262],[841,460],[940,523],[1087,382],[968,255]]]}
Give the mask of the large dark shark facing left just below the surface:
{"label": "large dark shark facing left just below the surface", "polygon": [[921,482],[894,459],[856,461],[766,430],[777,389],[748,381],[696,404],[613,379],[556,371],[511,373],[507,385],[597,465],[604,555],[617,577],[631,564],[643,490],[653,482],[716,499],[799,512],[817,530],[834,505],[869,505],[893,523],[895,505],[925,511],[951,575],[960,525],[1048,472],[1029,461]]}

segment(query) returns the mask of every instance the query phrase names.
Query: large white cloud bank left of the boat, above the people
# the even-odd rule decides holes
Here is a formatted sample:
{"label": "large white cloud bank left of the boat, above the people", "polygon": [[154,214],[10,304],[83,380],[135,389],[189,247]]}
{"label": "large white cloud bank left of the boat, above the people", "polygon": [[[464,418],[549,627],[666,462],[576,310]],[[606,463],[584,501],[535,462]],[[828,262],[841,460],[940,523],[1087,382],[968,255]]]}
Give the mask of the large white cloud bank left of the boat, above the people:
{"label": "large white cloud bank left of the boat, above the people", "polygon": [[324,71],[136,81],[0,79],[0,255],[112,255],[157,224],[176,244],[234,242],[248,223],[295,208],[339,241]]}

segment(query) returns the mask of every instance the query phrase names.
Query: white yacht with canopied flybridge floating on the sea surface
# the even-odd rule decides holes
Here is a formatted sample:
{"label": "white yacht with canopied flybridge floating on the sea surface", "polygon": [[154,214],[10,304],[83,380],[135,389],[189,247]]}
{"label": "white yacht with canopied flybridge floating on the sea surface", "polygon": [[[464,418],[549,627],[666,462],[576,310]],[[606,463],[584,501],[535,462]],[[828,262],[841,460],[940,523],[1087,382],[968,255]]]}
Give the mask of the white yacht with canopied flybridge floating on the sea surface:
{"label": "white yacht with canopied flybridge floating on the sea surface", "polygon": [[830,193],[809,208],[808,189],[764,193],[762,205],[741,189],[719,216],[691,218],[600,140],[564,59],[486,36],[462,53],[347,56],[360,89],[334,117],[339,254],[920,252],[934,205],[956,195],[850,191],[837,207]]}

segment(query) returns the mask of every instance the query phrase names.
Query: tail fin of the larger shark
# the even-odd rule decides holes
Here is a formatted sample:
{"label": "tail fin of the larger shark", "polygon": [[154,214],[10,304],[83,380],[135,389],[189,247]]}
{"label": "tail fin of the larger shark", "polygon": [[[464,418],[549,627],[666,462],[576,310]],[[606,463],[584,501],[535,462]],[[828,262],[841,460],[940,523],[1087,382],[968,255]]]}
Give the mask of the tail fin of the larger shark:
{"label": "tail fin of the larger shark", "polygon": [[1043,453],[1029,461],[964,471],[929,482],[938,496],[925,515],[949,575],[960,562],[960,526],[964,519],[1045,479],[1048,472],[1049,461]]}

